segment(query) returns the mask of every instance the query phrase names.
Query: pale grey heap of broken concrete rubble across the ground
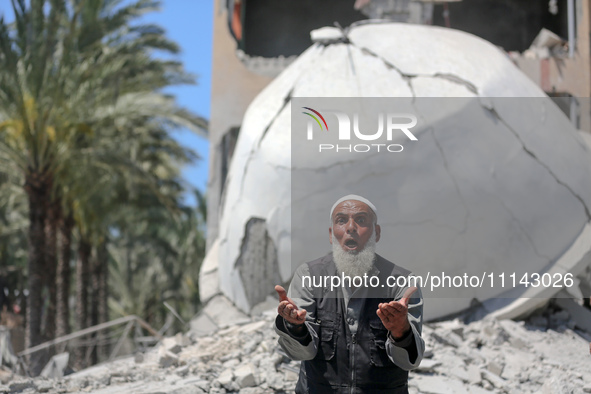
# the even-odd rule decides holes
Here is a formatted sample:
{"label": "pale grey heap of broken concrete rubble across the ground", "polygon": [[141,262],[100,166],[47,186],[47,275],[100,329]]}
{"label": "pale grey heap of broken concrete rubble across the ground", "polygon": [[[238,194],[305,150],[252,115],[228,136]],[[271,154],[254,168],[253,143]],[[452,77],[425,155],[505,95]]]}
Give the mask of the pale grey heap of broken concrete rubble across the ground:
{"label": "pale grey heap of broken concrete rubble across the ground", "polygon": [[[0,393],[293,392],[299,363],[277,346],[275,312],[213,335],[189,331],[61,380],[13,377]],[[591,392],[589,340],[565,310],[550,305],[527,321],[485,318],[424,325],[427,352],[410,374],[411,393]]]}

